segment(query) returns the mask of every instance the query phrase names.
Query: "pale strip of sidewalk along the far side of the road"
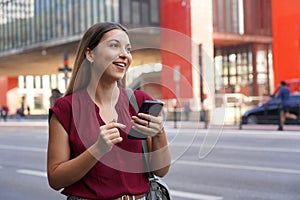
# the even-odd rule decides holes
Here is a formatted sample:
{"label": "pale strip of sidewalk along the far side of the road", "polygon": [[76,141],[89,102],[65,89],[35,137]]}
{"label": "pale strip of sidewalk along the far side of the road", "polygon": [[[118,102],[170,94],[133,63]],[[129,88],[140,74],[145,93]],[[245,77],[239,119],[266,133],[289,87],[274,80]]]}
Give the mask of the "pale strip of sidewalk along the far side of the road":
{"label": "pale strip of sidewalk along the far side of the road", "polygon": [[[166,128],[174,128],[174,121],[166,121],[164,126]],[[205,129],[204,122],[198,121],[177,121],[177,129]],[[7,122],[0,121],[1,127],[48,127],[47,119],[8,119]],[[237,125],[213,125],[208,124],[208,129],[226,129],[226,130],[240,130],[240,126]],[[265,130],[265,131],[277,131],[278,125],[243,125],[242,130]],[[300,134],[300,125],[285,125],[285,131],[295,131]]]}

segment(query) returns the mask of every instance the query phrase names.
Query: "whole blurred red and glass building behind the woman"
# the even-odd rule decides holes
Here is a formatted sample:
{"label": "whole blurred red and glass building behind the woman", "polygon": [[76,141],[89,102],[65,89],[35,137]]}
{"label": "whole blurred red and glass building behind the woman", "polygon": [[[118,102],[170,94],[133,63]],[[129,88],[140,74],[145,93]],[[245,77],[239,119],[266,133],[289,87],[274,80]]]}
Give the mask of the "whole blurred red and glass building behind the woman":
{"label": "whole blurred red and glass building behind the woman", "polygon": [[127,85],[170,112],[178,102],[197,112],[204,98],[218,107],[220,94],[261,98],[300,78],[299,0],[0,0],[0,104],[47,114],[83,33],[104,21],[129,29]]}

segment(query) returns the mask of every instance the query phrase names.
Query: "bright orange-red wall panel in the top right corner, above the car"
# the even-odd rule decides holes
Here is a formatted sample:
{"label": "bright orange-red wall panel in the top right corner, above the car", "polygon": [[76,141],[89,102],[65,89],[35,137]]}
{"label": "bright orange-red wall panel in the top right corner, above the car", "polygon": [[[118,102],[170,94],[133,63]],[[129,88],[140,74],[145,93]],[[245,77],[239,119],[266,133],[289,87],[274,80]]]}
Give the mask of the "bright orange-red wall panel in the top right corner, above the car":
{"label": "bright orange-red wall panel in the top right corner, above the car", "polygon": [[300,1],[273,0],[274,86],[300,78]]}

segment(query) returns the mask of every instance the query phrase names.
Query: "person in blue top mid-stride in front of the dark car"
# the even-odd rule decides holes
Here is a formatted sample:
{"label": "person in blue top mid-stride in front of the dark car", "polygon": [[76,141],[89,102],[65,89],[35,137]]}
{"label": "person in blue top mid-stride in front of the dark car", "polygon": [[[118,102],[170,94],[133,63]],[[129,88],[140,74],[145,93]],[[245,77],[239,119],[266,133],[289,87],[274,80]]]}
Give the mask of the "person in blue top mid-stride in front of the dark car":
{"label": "person in blue top mid-stride in front of the dark car", "polygon": [[277,98],[280,99],[280,122],[278,130],[283,130],[283,125],[285,124],[286,118],[297,119],[297,116],[290,113],[289,110],[289,100],[290,100],[290,89],[287,87],[285,81],[280,82],[280,87],[278,89]]}

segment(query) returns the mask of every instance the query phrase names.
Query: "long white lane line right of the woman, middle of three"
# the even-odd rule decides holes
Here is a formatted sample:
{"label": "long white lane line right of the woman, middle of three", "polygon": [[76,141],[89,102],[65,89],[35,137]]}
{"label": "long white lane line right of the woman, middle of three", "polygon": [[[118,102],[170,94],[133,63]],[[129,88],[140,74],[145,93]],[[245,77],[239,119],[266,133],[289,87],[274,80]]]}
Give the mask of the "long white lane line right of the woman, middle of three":
{"label": "long white lane line right of the woman, middle of three", "polygon": [[284,169],[284,168],[256,167],[256,166],[246,166],[246,165],[230,165],[230,164],[207,163],[207,162],[184,161],[184,160],[178,160],[175,162],[175,164],[300,175],[300,170]]}

